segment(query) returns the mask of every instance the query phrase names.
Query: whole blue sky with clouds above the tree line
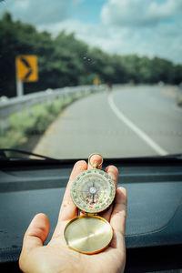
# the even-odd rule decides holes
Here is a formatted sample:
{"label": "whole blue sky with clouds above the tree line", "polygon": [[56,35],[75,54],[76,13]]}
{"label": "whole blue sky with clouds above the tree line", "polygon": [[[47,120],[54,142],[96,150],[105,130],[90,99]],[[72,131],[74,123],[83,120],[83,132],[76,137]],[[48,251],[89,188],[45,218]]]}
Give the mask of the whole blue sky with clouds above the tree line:
{"label": "whole blue sky with clouds above the tree line", "polygon": [[0,16],[120,55],[159,56],[182,64],[182,0],[0,0]]}

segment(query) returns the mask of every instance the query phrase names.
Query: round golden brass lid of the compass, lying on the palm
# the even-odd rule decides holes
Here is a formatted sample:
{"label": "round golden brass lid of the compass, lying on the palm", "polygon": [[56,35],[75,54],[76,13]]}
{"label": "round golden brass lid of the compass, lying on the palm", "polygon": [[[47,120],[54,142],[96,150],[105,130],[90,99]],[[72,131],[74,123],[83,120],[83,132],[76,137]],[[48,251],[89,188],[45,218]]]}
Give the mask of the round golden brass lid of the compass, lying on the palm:
{"label": "round golden brass lid of the compass, lying on the palm", "polygon": [[84,215],[72,219],[65,228],[69,248],[94,254],[106,248],[113,238],[113,229],[103,217]]}

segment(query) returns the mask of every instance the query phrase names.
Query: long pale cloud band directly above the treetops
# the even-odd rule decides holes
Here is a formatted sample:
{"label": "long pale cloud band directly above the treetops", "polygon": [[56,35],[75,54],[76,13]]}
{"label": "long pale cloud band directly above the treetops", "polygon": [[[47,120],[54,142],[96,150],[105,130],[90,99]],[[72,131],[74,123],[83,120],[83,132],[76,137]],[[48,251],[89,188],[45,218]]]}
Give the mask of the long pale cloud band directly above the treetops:
{"label": "long pale cloud band directly above the treetops", "polygon": [[78,20],[66,19],[52,25],[41,25],[40,30],[48,30],[57,35],[61,30],[75,32],[76,37],[88,45],[98,46],[109,53],[120,55],[159,56],[175,63],[182,63],[182,22],[157,27],[118,28],[115,25],[85,24]]}

